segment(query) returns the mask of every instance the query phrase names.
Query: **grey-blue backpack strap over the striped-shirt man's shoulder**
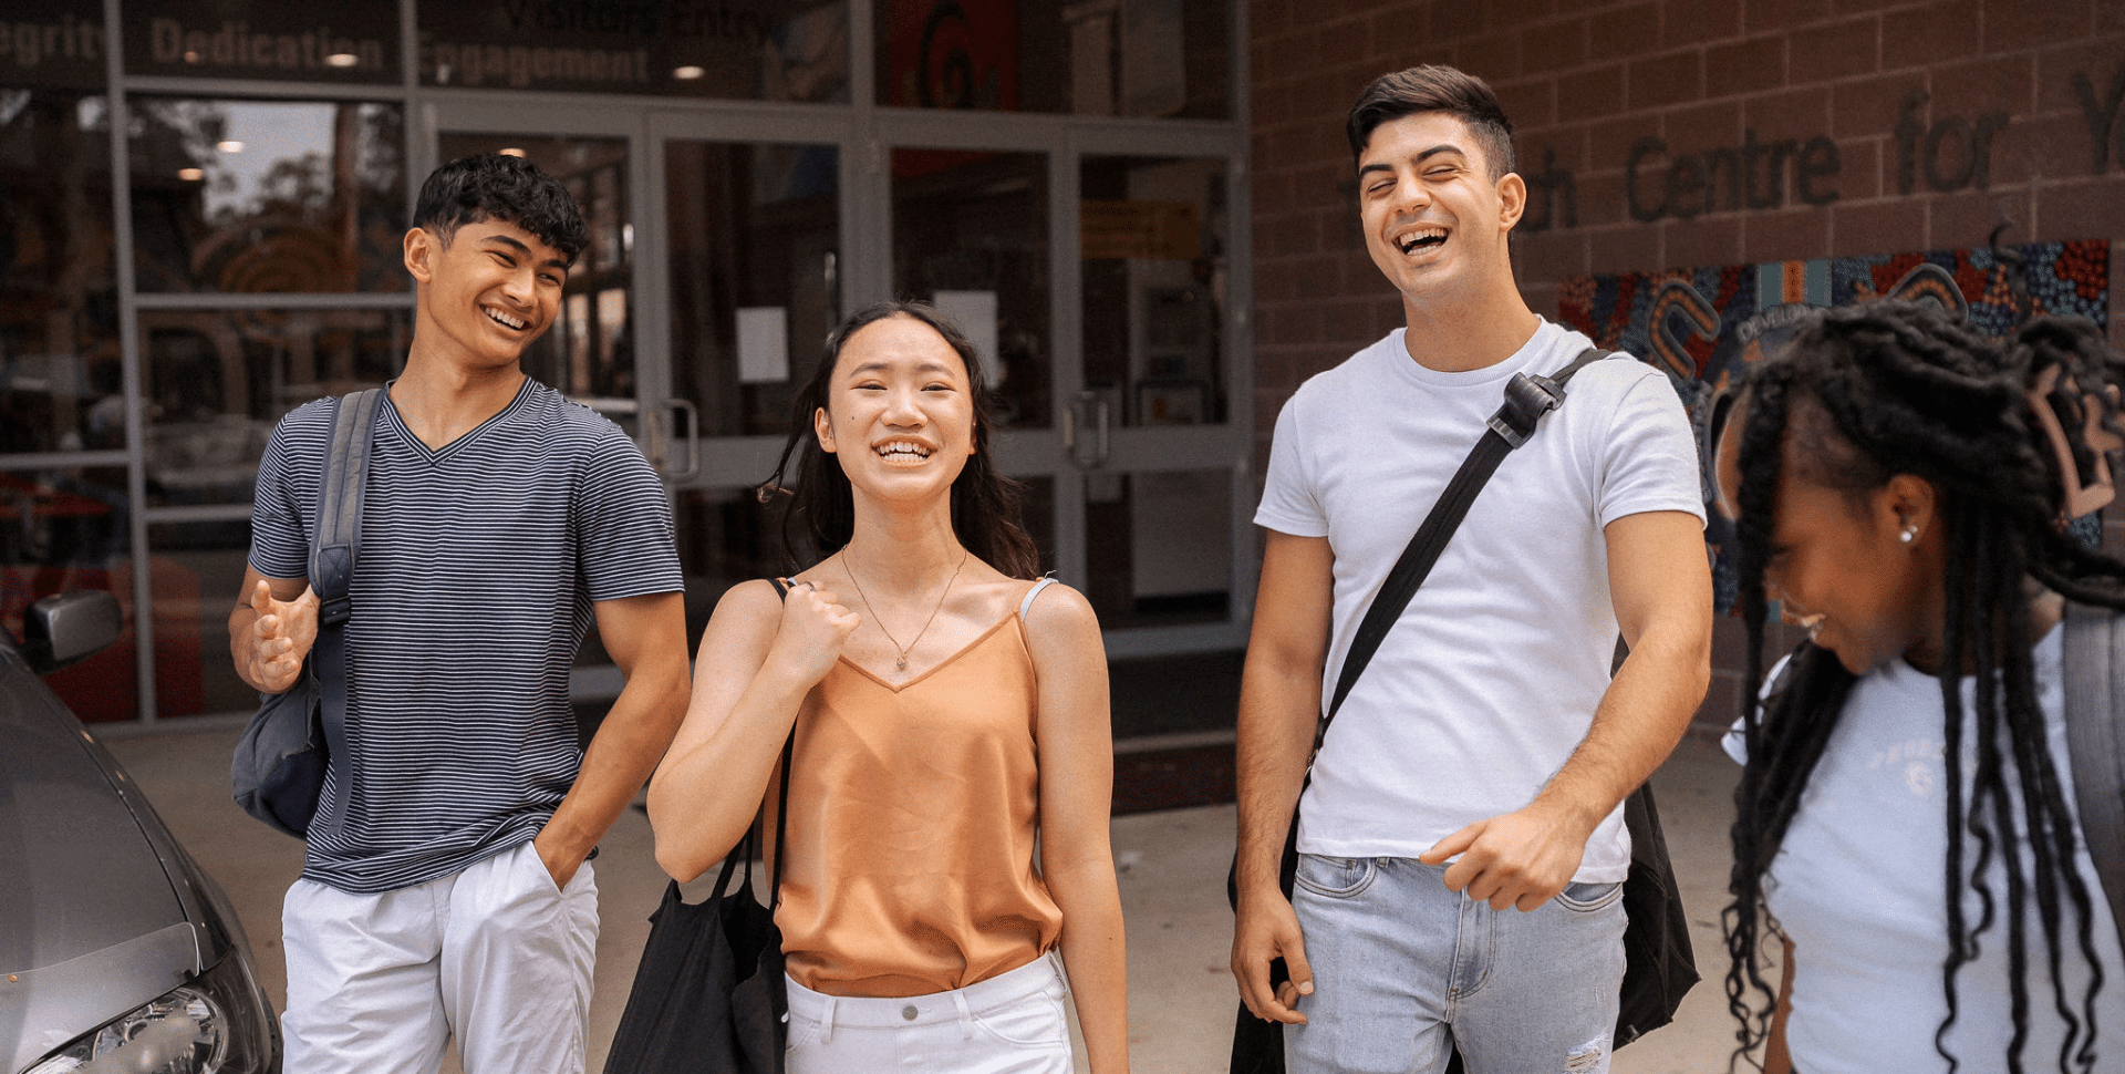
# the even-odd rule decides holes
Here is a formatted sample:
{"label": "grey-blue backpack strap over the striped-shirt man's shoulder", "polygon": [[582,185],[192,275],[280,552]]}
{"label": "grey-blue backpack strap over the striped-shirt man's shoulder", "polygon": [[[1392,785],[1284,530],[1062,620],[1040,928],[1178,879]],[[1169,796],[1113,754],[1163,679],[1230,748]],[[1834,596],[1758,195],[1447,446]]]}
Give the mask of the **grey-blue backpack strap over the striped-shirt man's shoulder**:
{"label": "grey-blue backpack strap over the striped-shirt man's shoulder", "polygon": [[[370,481],[370,434],[376,427],[376,406],[382,389],[355,391],[336,398],[332,415],[332,447],[317,476],[317,519],[310,527],[310,589],[317,591],[317,683],[323,689],[319,715],[325,725],[329,757],[346,753],[346,619],[353,602],[346,591],[355,576],[355,551],[361,547],[361,498]],[[344,778],[346,768],[340,768]],[[340,795],[346,802],[346,795]],[[325,821],[336,827],[336,819]],[[314,829],[317,825],[312,825]]]}

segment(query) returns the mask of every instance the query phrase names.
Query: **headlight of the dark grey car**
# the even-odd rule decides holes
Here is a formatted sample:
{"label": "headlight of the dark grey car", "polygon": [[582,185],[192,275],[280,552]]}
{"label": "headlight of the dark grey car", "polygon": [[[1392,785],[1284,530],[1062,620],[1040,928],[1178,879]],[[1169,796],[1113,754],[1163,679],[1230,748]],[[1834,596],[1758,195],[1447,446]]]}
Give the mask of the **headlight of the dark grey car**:
{"label": "headlight of the dark grey car", "polygon": [[70,1040],[23,1074],[251,1074],[261,1055],[257,989],[230,953],[212,970]]}

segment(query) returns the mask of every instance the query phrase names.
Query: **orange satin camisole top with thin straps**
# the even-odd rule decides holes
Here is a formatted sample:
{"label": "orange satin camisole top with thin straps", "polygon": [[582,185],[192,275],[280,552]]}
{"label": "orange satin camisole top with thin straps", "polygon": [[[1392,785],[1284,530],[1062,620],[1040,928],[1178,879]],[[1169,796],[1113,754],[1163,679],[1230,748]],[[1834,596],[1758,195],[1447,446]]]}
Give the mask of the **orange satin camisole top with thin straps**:
{"label": "orange satin camisole top with thin straps", "polygon": [[1018,615],[899,687],[846,657],[812,687],[776,910],[799,985],[926,995],[1056,944],[1062,910],[1033,863],[1039,693],[1022,617],[1039,585]]}

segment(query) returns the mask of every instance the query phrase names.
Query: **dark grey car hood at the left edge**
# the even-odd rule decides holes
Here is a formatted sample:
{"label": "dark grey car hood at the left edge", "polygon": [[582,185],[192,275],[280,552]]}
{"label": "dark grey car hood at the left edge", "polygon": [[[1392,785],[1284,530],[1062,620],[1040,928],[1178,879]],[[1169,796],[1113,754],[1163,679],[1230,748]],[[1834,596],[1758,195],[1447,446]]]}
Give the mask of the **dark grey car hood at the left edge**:
{"label": "dark grey car hood at the left edge", "polygon": [[193,923],[117,778],[0,651],[0,1042],[30,1025],[85,1031],[200,968]]}

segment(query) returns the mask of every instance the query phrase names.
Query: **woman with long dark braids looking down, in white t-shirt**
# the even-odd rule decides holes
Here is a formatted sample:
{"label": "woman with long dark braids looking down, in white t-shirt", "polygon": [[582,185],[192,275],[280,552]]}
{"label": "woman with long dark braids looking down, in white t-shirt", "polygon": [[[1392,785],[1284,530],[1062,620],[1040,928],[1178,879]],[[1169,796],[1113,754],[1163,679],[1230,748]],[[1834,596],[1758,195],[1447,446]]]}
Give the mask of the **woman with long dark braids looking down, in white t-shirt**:
{"label": "woman with long dark braids looking down, in white t-shirt", "polygon": [[[1717,444],[1742,698],[1766,698],[1738,727],[1726,987],[1772,1072],[2125,1070],[2059,642],[2066,600],[2125,606],[2125,564],[2061,527],[2070,474],[2029,398],[2046,368],[2116,430],[2119,364],[2087,321],[2002,349],[1908,302],[1828,311],[1751,368]],[[1810,638],[1764,691],[1770,600]]]}

